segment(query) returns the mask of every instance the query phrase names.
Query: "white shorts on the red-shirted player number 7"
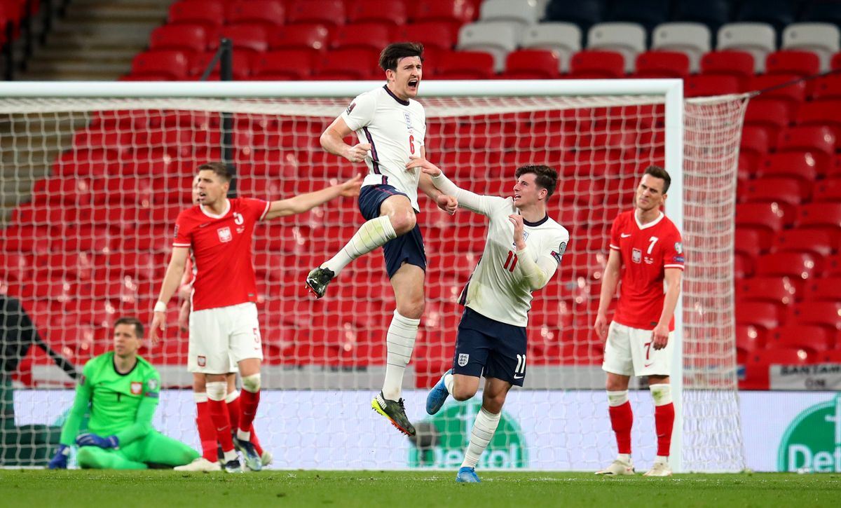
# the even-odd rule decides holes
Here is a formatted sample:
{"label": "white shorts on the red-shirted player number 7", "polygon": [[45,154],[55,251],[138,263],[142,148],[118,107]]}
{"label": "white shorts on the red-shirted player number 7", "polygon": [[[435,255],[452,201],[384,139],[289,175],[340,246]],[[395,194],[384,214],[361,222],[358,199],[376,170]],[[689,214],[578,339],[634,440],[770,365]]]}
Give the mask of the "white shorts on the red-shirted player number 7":
{"label": "white shorts on the red-shirted player number 7", "polygon": [[663,349],[654,349],[652,331],[611,321],[607,329],[605,361],[601,369],[622,376],[669,376],[672,371],[674,332]]}

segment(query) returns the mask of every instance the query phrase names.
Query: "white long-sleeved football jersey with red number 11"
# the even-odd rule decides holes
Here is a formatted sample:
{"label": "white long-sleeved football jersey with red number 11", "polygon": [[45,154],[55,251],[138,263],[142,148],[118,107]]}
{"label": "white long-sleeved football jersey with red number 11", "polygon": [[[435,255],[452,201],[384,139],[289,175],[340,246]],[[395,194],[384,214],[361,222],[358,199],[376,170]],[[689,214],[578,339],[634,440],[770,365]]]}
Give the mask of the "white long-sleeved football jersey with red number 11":
{"label": "white long-sleeved football jersey with red number 11", "polygon": [[[458,198],[458,206],[489,219],[488,236],[479,264],[462,290],[459,302],[492,320],[515,326],[528,324],[532,309],[532,288],[518,268],[517,248],[514,244],[514,225],[508,219],[516,214],[513,198],[480,196],[458,188],[443,175],[433,178],[443,193]],[[547,215],[542,220],[524,222],[523,239],[526,254],[552,278],[569,242],[569,232]]]}

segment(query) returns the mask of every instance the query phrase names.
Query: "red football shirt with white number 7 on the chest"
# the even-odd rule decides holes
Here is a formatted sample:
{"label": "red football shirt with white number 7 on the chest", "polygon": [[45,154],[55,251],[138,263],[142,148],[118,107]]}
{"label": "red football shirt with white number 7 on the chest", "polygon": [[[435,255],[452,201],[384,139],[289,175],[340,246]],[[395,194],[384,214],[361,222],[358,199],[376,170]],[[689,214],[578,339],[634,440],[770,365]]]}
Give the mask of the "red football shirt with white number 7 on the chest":
{"label": "red football shirt with white number 7 on the chest", "polygon": [[[653,330],[663,313],[665,269],[684,267],[680,231],[662,213],[659,219],[640,225],[631,210],[613,221],[611,249],[621,254],[621,288],[613,320]],[[669,331],[674,331],[674,317]]]}

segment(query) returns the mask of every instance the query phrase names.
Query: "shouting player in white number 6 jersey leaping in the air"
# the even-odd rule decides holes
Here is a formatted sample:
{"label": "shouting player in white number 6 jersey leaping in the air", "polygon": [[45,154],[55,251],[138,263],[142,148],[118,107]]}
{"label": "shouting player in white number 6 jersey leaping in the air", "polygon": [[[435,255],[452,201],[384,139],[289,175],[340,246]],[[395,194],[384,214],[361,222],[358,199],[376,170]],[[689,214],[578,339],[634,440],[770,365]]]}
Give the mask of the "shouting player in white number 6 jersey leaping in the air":
{"label": "shouting player in white number 6 jersey leaping in the air", "polygon": [[[421,103],[414,100],[423,76],[422,62],[423,45],[401,42],[387,46],[379,57],[386,84],[353,99],[321,135],[321,146],[326,151],[368,165],[368,176],[359,193],[359,211],[367,222],[336,256],[314,268],[305,281],[310,292],[322,298],[327,284],[348,263],[383,246],[397,309],[386,333],[383,389],[371,405],[409,436],[415,435],[415,427],[406,416],[400,395],[425,305],[426,253],[415,218],[420,210],[418,188],[451,214],[457,206],[454,198],[432,185],[430,177],[406,167],[412,156],[426,158],[426,113]],[[344,138],[353,132],[359,143],[350,146]]]}

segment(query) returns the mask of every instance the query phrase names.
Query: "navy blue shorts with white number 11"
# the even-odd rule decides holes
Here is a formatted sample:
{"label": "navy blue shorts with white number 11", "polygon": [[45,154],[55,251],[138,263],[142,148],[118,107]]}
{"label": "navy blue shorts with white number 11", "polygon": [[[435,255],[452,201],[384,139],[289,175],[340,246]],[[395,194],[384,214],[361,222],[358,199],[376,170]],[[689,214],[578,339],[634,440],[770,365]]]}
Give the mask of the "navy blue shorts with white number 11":
{"label": "navy blue shorts with white number 11", "polygon": [[517,386],[526,378],[526,328],[464,308],[458,323],[452,373],[497,378]]}

